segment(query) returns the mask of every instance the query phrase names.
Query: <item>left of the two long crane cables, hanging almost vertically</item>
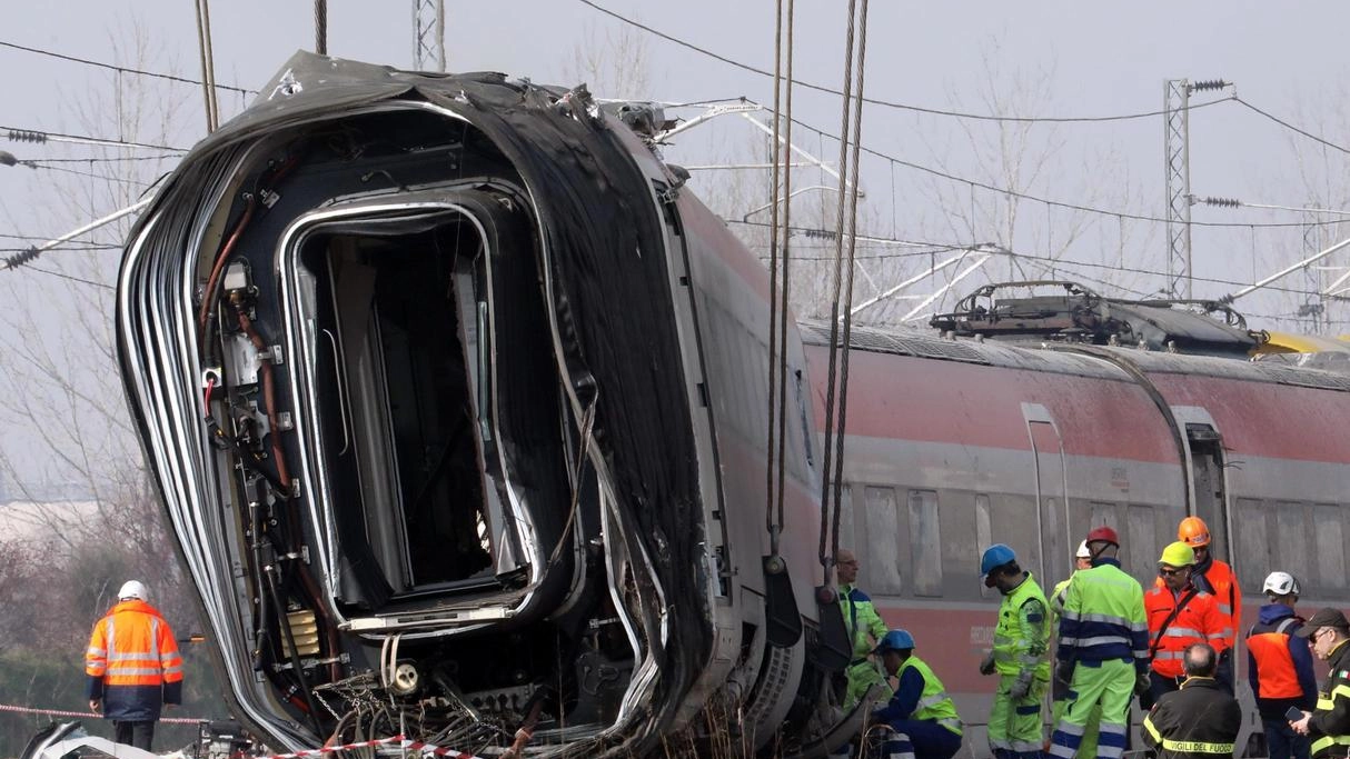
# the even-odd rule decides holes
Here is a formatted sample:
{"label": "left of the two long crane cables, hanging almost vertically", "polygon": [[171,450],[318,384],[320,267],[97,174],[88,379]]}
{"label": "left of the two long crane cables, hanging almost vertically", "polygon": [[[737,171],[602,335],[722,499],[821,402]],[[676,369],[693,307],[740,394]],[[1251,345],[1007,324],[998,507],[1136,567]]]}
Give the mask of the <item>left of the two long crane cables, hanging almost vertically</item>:
{"label": "left of the two long crane cables, hanging almost vertically", "polygon": [[[783,8],[787,7],[786,32],[786,89],[784,88],[784,32]],[[784,568],[779,557],[780,538],[783,533],[783,489],[786,466],[786,431],[787,431],[787,305],[788,305],[788,252],[787,240],[791,229],[791,154],[792,144],[792,27],[795,16],[795,0],[778,0],[778,13],[774,24],[774,174],[770,190],[770,310],[768,310],[768,435],[765,445],[765,506],[764,528],[770,538],[770,559],[775,564],[772,570]],[[783,102],[786,100],[786,104]],[[779,124],[787,124],[784,136],[779,136]],[[779,204],[783,204],[783,221],[779,224]],[[782,237],[780,237],[782,236]],[[782,266],[779,251],[782,245]],[[780,276],[782,271],[782,276]],[[782,284],[779,280],[782,279]],[[776,476],[775,476],[776,475]],[[776,514],[775,514],[776,511]]]}

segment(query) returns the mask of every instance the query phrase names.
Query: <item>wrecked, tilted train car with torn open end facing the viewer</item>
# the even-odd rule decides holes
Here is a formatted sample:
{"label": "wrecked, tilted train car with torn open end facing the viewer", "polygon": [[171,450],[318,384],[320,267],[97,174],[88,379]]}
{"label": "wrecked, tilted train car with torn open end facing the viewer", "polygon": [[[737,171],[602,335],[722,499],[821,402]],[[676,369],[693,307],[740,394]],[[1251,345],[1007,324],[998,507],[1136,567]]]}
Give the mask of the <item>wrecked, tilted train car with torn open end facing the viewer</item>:
{"label": "wrecked, tilted train car with torn open end facing the viewer", "polygon": [[765,561],[767,275],[679,185],[585,90],[308,54],[163,185],[126,386],[270,743],[848,735],[802,344]]}

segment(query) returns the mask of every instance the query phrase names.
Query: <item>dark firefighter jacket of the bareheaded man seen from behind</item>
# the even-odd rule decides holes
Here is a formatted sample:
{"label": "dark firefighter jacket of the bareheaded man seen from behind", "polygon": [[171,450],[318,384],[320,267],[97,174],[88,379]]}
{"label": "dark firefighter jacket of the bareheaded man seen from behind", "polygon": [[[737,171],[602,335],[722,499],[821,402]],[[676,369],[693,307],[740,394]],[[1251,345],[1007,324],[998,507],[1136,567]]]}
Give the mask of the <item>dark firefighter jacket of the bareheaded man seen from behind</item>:
{"label": "dark firefighter jacket of the bareheaded man seen from behind", "polygon": [[1214,678],[1187,679],[1143,719],[1143,743],[1158,759],[1231,758],[1241,731],[1242,708]]}

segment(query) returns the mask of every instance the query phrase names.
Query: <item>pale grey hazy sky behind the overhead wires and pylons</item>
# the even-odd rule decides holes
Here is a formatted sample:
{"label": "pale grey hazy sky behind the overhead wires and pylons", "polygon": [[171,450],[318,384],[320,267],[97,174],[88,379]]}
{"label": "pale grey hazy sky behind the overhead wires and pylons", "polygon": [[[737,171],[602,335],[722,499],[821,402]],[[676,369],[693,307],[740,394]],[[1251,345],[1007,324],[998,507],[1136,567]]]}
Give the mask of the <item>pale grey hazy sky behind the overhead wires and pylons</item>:
{"label": "pale grey hazy sky behind the overhead wires and pylons", "polygon": [[[768,0],[597,3],[694,44],[772,69],[775,5]],[[570,80],[578,71],[578,51],[603,55],[624,39],[626,30],[628,39],[644,47],[648,89],[641,93],[601,90],[601,96],[641,96],[672,102],[747,96],[772,101],[768,80],[628,28],[579,0],[446,0],[446,44],[452,70],[501,70],[539,82],[575,84]],[[840,86],[844,8],[844,3],[796,3],[795,65],[801,80]],[[213,3],[217,81],[250,89],[262,86],[294,50],[313,47],[312,11],[313,4],[308,1]],[[61,4],[59,12],[38,3],[9,3],[4,12],[0,42],[198,77],[197,36],[189,3],[72,0]],[[328,22],[329,54],[410,65],[409,0],[331,0]],[[1343,82],[1350,67],[1342,42],[1346,28],[1350,28],[1350,4],[1330,0],[1297,5],[1256,1],[1119,5],[876,1],[871,4],[867,94],[976,113],[1108,116],[1160,109],[1164,80],[1222,77],[1235,82],[1237,93],[1253,105],[1323,133],[1336,144],[1350,146],[1343,105]],[[139,53],[138,39],[143,43]],[[109,113],[112,107],[101,105],[112,102],[115,74],[5,47],[0,47],[0,67],[4,71],[0,125],[117,136],[116,120]],[[176,117],[166,135],[142,131],[124,135],[127,139],[158,142],[162,138],[173,146],[189,146],[201,136],[198,88],[154,80],[143,85],[147,97],[140,104],[144,109],[142,123],[155,124],[155,112],[165,105]],[[1197,94],[1195,100],[1210,97]],[[238,96],[221,93],[220,100],[225,115],[242,107]],[[694,112],[679,113],[691,116]],[[840,127],[840,102],[833,96],[799,90],[795,115],[828,133],[836,133]],[[737,155],[744,160],[740,154],[756,144],[752,135],[744,123],[725,120],[702,138],[682,140],[667,155],[682,163],[710,163]],[[798,136],[807,150],[832,162],[837,158],[838,147],[832,140],[809,132]],[[1289,206],[1310,202],[1350,206],[1346,182],[1350,155],[1300,138],[1238,104],[1195,111],[1191,139],[1196,194]],[[1139,216],[1164,213],[1161,117],[1000,125],[868,107],[863,143],[906,162],[994,186],[1011,183],[1041,198]],[[0,150],[20,159],[117,155],[116,151],[4,140],[0,140]],[[126,200],[109,195],[104,178],[144,182],[153,177],[154,167],[167,170],[171,160],[59,164],[100,178],[54,171],[50,166],[57,164],[47,166],[39,170],[0,166],[0,233],[49,236],[65,232],[90,216],[115,210],[119,200]],[[818,179],[818,173],[803,173],[798,185]],[[698,174],[695,189],[716,181],[709,174]],[[747,178],[747,182],[755,191],[763,191],[761,178]],[[1045,266],[1035,268],[1034,257],[1064,256],[1095,264],[1071,270],[1088,282],[1118,282],[1133,293],[1154,293],[1164,284],[1160,276],[1120,276],[1104,268],[1118,263],[1146,271],[1162,268],[1165,235],[1156,222],[1033,201],[1018,204],[1010,221],[1014,209],[1007,197],[972,190],[961,182],[934,178],[879,158],[865,162],[863,187],[867,200],[860,231],[865,233],[941,244],[995,241],[1033,256],[1023,270],[1011,272],[1014,275],[1049,275]],[[707,187],[707,194],[718,193]],[[72,210],[72,198],[82,200],[88,208]],[[734,209],[740,216],[761,202],[763,197],[741,197],[738,204],[726,201],[726,210]],[[803,198],[803,202],[810,209],[811,204],[822,201],[818,195]],[[717,208],[717,202],[710,205]],[[1196,206],[1193,218],[1297,224],[1305,216]],[[1315,232],[1319,237],[1305,241],[1305,231],[1299,226],[1196,229],[1196,275],[1223,280],[1197,282],[1196,294],[1230,293],[1237,282],[1297,260],[1305,244],[1350,236],[1350,228],[1341,226],[1322,226]],[[116,232],[88,237],[94,241],[115,239]],[[0,237],[0,247],[24,244]],[[868,264],[868,275],[876,286],[884,287],[888,279],[917,271],[919,262],[929,260],[886,257],[896,251],[894,247],[867,247],[860,252],[882,256]],[[112,283],[116,259],[116,251],[53,252],[39,263],[51,271]],[[1345,266],[1347,262],[1350,257],[1338,256],[1326,263]],[[994,278],[1010,274],[1006,262],[991,263],[990,268]],[[1058,271],[1064,272],[1064,268]],[[1320,272],[1323,280],[1338,275],[1338,271]],[[930,291],[938,282],[921,283],[917,291]],[[977,282],[979,278],[972,278],[956,290],[965,291]],[[1285,282],[1291,287],[1310,283],[1301,274]],[[865,278],[859,287],[860,298],[872,293],[872,283]],[[0,313],[8,314],[9,340],[23,344],[38,340],[46,348],[74,352],[77,357],[86,357],[81,348],[86,336],[111,320],[108,291],[92,284],[20,270],[0,272],[0,293],[5,299]],[[1260,314],[1253,317],[1254,322],[1265,318],[1266,326],[1292,326],[1292,322],[1266,317],[1289,314],[1301,301],[1301,295],[1274,291],[1245,301],[1243,306]],[[909,309],[903,303],[896,307]],[[879,309],[875,314],[894,320],[896,307]],[[1346,311],[1336,306],[1332,314],[1334,320],[1343,320]],[[1338,321],[1330,329],[1350,330]],[[94,375],[90,382],[113,403],[120,403],[122,391],[112,369],[94,356],[88,372]]]}

